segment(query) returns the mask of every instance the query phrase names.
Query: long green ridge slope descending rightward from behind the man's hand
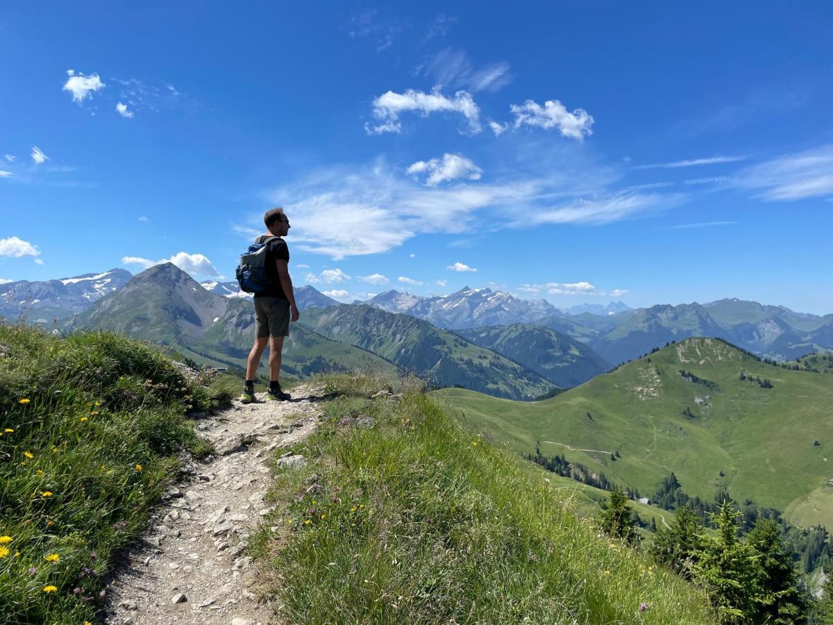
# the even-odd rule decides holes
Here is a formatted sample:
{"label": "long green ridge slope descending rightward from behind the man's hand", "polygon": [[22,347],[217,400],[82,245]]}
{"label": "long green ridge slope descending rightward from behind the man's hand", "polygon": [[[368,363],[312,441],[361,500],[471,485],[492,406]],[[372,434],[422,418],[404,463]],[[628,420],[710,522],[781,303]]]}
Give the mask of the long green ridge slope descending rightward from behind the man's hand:
{"label": "long green ridge slope descending rightward from behind the man's hand", "polygon": [[554,388],[531,369],[409,315],[342,304],[304,311],[300,323],[438,386],[461,386],[514,399],[541,397]]}

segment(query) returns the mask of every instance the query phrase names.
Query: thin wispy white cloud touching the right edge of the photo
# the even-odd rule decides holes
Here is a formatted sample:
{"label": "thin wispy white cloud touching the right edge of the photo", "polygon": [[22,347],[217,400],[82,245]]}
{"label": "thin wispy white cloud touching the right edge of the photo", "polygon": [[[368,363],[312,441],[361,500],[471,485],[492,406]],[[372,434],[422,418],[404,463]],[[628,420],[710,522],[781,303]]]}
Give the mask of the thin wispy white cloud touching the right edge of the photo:
{"label": "thin wispy white cloud touching the right edge of the photo", "polygon": [[731,183],[758,191],[767,202],[791,202],[833,193],[833,145],[786,154],[739,173]]}

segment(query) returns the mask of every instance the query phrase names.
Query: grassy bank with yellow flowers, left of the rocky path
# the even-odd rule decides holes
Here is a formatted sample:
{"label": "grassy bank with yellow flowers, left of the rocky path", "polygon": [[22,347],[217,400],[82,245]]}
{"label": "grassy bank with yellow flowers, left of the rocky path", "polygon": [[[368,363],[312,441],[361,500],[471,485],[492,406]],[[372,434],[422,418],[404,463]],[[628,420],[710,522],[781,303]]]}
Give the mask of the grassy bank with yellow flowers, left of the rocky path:
{"label": "grassy bank with yellow flowers, left of the rocky path", "polygon": [[0,620],[94,622],[112,556],[141,532],[177,455],[208,450],[186,408],[228,391],[112,335],[0,326],[0,345]]}

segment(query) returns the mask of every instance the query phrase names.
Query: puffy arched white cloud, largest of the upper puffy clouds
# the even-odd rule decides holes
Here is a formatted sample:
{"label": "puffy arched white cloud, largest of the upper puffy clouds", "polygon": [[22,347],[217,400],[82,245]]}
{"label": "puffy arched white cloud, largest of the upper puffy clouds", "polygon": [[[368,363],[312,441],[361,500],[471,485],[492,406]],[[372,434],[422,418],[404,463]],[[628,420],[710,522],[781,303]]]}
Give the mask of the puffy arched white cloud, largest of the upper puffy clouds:
{"label": "puffy arched white cloud, largest of the upper puffy clouds", "polygon": [[451,98],[442,95],[439,89],[431,93],[408,89],[404,93],[388,91],[373,100],[373,117],[379,123],[376,126],[366,123],[367,134],[399,133],[402,130],[399,116],[403,112],[417,112],[423,117],[432,112],[458,112],[468,121],[467,133],[481,131],[480,109],[470,93],[458,91]]}

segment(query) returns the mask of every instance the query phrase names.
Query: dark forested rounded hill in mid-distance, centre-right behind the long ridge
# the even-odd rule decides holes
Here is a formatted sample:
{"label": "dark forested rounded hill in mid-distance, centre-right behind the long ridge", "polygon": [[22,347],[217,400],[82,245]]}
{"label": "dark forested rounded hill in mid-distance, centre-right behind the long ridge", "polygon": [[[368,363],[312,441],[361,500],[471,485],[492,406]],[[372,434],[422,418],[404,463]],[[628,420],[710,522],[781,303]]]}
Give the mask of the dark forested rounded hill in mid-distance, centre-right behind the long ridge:
{"label": "dark forested rounded hill in mid-distance, centre-right behind the long ridge", "polygon": [[530,323],[471,328],[457,333],[531,368],[561,388],[575,387],[610,368],[609,363],[583,343]]}

